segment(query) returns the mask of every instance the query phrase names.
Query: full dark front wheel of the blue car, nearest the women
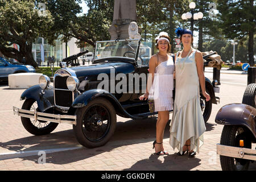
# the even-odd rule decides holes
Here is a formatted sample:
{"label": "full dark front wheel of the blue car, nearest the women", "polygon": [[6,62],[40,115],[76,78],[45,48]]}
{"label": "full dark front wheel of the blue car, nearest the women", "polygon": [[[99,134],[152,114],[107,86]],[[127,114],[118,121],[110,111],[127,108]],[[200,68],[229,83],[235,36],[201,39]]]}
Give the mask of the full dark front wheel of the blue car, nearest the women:
{"label": "full dark front wheel of the blue car, nearest the women", "polygon": [[104,146],[115,131],[117,116],[113,105],[105,98],[96,98],[77,109],[76,138],[88,148]]}

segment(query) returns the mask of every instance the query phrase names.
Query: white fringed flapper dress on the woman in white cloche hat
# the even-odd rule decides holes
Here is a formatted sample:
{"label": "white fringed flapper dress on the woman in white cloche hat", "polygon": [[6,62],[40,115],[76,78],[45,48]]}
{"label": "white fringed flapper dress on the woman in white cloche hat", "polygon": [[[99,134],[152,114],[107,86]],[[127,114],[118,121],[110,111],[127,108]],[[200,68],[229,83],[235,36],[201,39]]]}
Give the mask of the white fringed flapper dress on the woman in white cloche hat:
{"label": "white fringed flapper dress on the woman in white cloche hat", "polygon": [[154,81],[148,96],[149,99],[154,99],[155,111],[172,110],[174,69],[174,61],[171,56],[168,56],[167,61],[163,61],[155,68]]}

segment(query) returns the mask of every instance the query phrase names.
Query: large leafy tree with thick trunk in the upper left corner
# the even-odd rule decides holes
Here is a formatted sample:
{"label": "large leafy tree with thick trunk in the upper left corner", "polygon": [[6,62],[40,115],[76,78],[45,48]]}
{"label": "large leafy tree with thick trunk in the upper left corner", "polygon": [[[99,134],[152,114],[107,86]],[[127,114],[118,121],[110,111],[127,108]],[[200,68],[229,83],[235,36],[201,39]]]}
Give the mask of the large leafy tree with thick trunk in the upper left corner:
{"label": "large leafy tree with thick trunk in the upper left corner", "polygon": [[[32,56],[32,43],[39,36],[55,39],[49,28],[53,25],[49,11],[40,12],[35,1],[0,0],[0,51],[7,57],[38,67]],[[11,47],[19,45],[19,50]]]}

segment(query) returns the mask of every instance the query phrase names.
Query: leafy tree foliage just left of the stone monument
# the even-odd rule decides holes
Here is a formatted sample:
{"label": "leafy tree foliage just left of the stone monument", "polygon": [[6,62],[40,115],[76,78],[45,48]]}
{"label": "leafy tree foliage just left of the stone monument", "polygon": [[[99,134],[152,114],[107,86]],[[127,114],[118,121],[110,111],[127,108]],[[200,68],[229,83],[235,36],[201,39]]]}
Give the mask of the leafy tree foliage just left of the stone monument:
{"label": "leafy tree foliage just left of the stone monument", "polygon": [[[69,0],[65,0],[69,1]],[[62,18],[62,22],[65,24],[65,37],[74,37],[78,39],[77,44],[80,47],[90,45],[95,47],[95,43],[98,40],[109,40],[109,27],[112,24],[113,12],[114,12],[114,0],[84,0],[88,6],[88,12],[81,16],[77,16],[77,12],[69,14],[67,20]],[[59,0],[57,3],[61,5],[63,1]],[[64,5],[65,6],[65,5]],[[77,9],[75,4],[72,5]],[[53,4],[51,12],[60,11],[59,8]],[[67,12],[72,11],[66,10]],[[55,15],[54,15],[55,16]],[[62,17],[61,14],[59,14]]]}

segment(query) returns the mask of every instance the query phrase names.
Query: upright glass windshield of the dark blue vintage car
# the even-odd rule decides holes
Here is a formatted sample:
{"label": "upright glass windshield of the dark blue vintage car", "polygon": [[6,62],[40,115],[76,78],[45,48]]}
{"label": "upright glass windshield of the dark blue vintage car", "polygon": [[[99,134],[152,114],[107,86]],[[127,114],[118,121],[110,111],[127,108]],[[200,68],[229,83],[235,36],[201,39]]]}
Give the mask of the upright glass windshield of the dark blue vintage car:
{"label": "upright glass windshield of the dark blue vintage car", "polygon": [[96,53],[94,59],[104,57],[130,57],[135,59],[139,40],[109,40],[96,43]]}

